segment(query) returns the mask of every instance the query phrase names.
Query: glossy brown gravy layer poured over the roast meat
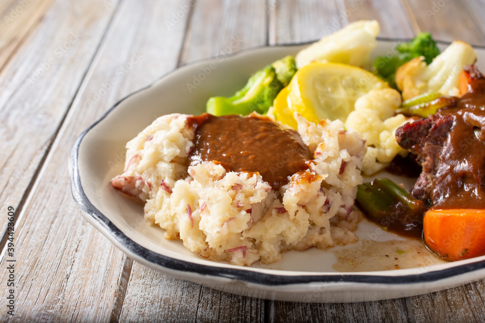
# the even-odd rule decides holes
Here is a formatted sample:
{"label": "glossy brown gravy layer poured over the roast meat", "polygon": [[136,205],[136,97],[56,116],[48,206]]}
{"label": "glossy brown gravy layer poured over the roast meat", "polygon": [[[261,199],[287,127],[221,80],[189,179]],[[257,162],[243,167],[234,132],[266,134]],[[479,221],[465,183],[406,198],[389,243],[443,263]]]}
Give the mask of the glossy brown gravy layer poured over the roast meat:
{"label": "glossy brown gravy layer poured over the roast meat", "polygon": [[433,180],[431,200],[439,208],[485,209],[485,78],[469,84],[452,115],[453,127],[439,156],[442,165]]}

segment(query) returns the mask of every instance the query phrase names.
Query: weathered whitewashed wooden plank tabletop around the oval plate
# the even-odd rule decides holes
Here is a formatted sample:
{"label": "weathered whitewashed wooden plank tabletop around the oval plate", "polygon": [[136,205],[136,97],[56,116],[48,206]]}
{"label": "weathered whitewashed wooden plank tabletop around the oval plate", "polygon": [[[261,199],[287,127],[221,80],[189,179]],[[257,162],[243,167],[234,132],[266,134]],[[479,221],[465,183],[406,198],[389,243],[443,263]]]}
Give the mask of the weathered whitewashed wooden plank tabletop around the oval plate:
{"label": "weathered whitewashed wooden plank tabletop around the oval plate", "polygon": [[[265,10],[270,15],[271,32],[269,40],[271,44],[318,39],[328,33],[327,30],[333,31],[326,29],[326,27],[332,27],[334,17],[339,24],[346,24],[345,19],[339,18],[339,14],[341,10],[345,12],[346,9],[349,9],[352,4],[352,1],[347,0],[337,2],[335,5],[327,1],[320,4],[315,3],[316,1],[302,1],[299,5],[290,0],[269,1]],[[118,98],[145,85],[166,70],[174,68],[177,62],[181,64],[217,55],[221,51],[224,52],[227,46],[236,51],[245,48],[246,45],[247,47],[257,46],[266,42],[265,34],[258,34],[256,29],[258,22],[255,20],[260,21],[260,17],[254,18],[254,15],[261,15],[261,12],[263,12],[259,8],[259,2],[241,1],[239,4],[234,4],[235,1],[213,0],[210,3],[209,1],[204,2],[205,6],[197,2],[201,14],[199,16],[199,9],[192,14],[193,19],[189,24],[190,29],[185,38],[184,50],[178,57],[183,29],[191,14],[185,13],[182,17],[179,17],[179,21],[173,20],[174,17],[171,14],[178,13],[179,10],[183,11],[181,6],[186,5],[187,2],[171,2],[170,4],[140,1],[138,3],[135,3],[135,1],[122,3],[122,7],[113,21],[113,27],[106,35],[106,41],[101,46],[99,54],[96,56],[92,68],[88,71],[72,105],[73,108],[65,119],[65,123],[59,132],[60,136],[53,143],[44,167],[38,173],[32,194],[25,200],[26,207],[22,211],[21,219],[16,227],[16,243],[18,244],[16,254],[18,255],[17,259],[21,260],[16,269],[16,279],[18,279],[16,321],[22,322],[32,319],[32,321],[133,320],[148,322],[163,321],[166,318],[166,320],[186,322],[189,320],[263,321],[268,318],[270,321],[285,322],[301,320],[345,322],[392,320],[399,322],[412,321],[415,317],[420,322],[442,322],[450,320],[450,318],[456,321],[484,321],[484,300],[481,297],[485,287],[483,281],[445,292],[408,298],[405,301],[333,305],[267,301],[268,316],[264,317],[264,301],[213,291],[164,276],[140,264],[132,264],[107,239],[82,221],[77,207],[71,201],[65,160],[72,141],[84,127],[97,119]],[[411,2],[413,4],[418,3],[418,1]],[[49,25],[50,27],[45,27],[46,21],[54,18],[49,16],[48,13],[38,27],[39,29],[44,28],[44,33],[41,34],[43,36],[39,36],[37,31],[32,32],[31,36],[28,37],[29,41],[18,48],[16,56],[9,61],[8,66],[0,73],[0,89],[2,89],[2,92],[0,92],[0,120],[6,120],[4,116],[13,114],[8,119],[9,123],[1,124],[0,129],[7,129],[3,132],[0,130],[2,138],[7,138],[12,146],[25,143],[26,141],[22,141],[24,139],[32,140],[33,138],[34,142],[31,144],[37,147],[37,151],[28,150],[27,153],[25,151],[20,153],[16,150],[7,151],[8,154],[0,157],[0,165],[2,165],[0,185],[3,187],[3,191],[0,193],[0,203],[2,205],[14,204],[12,201],[16,201],[16,199],[13,197],[22,195],[47,147],[51,144],[50,135],[53,135],[57,128],[52,124],[62,122],[62,118],[57,115],[57,119],[52,118],[50,113],[52,111],[62,112],[63,108],[32,110],[32,106],[59,105],[64,109],[69,106],[70,98],[77,89],[72,78],[74,76],[74,78],[77,77],[78,80],[81,80],[83,72],[69,70],[70,73],[61,73],[59,70],[66,66],[73,68],[73,65],[84,66],[85,70],[89,65],[90,56],[87,51],[91,48],[93,50],[91,55],[94,53],[97,44],[95,40],[99,40],[103,31],[102,26],[104,25],[101,22],[106,25],[109,20],[108,18],[103,18],[104,20],[94,18],[94,16],[95,14],[103,14],[104,16],[104,14],[109,14],[114,10],[114,6],[109,5],[106,8],[103,2],[100,3],[92,7],[93,12],[90,12],[90,14],[93,15],[93,18],[89,22],[84,21],[84,25],[89,25],[90,32],[86,35],[86,38],[81,37],[78,42],[92,41],[91,47],[76,43],[78,44],[78,47],[75,48],[76,56],[73,53],[65,53],[62,62],[60,62],[61,60],[56,62],[53,65],[54,67],[50,68],[50,72],[48,71],[52,74],[44,74],[41,78],[43,79],[42,85],[31,85],[28,90],[24,90],[21,83],[32,76],[31,70],[39,67],[41,63],[46,62],[46,59],[53,56],[52,53],[56,46],[60,46],[66,41],[66,39],[61,39],[61,36],[64,35],[61,31],[69,29],[71,25],[67,23],[74,23],[69,21],[69,17],[63,20],[64,25],[52,23]],[[113,2],[109,1],[108,3],[117,2],[113,0]],[[275,7],[272,7],[274,3]],[[425,8],[430,3],[432,5],[432,1],[420,5]],[[215,7],[211,7],[209,4],[215,5]],[[258,4],[259,7],[255,8],[255,4]],[[403,2],[403,8],[406,5],[409,4]],[[53,8],[56,6],[64,8],[58,3]],[[241,9],[244,6],[248,7]],[[448,6],[449,4],[447,4],[447,8],[450,8]],[[454,4],[453,6],[453,10],[447,9],[450,10],[451,14],[447,14],[447,18],[441,19],[458,21],[456,16],[452,14],[454,10],[459,11],[461,9]],[[229,13],[226,9],[226,12],[223,13],[218,13],[218,10],[214,12],[214,8],[229,7],[238,8],[239,15],[236,16],[232,13],[232,9],[229,10]],[[484,34],[484,25],[477,22],[477,13],[481,12],[479,9],[482,7],[483,1],[480,4],[469,3],[467,8],[471,9],[466,9],[471,17],[470,19],[476,25],[475,28],[481,32],[481,35]],[[423,21],[425,21],[423,17],[426,17],[426,15],[420,18],[404,18],[406,14],[399,11],[402,8],[399,9],[398,4],[396,4],[396,7],[391,6],[389,1],[364,0],[358,8],[348,15],[347,20],[354,21],[360,18],[375,17],[381,23],[381,34],[389,37],[409,37],[412,35],[412,31],[416,32],[421,28],[423,31],[437,28],[433,27],[434,18],[430,19],[429,26],[423,24]],[[51,11],[53,10],[51,9]],[[414,11],[419,10],[415,9]],[[422,15],[423,12],[420,12],[420,14]],[[66,12],[64,11],[62,15],[66,15]],[[202,15],[205,18],[202,18]],[[285,18],[284,15],[288,17]],[[461,15],[458,14],[457,16]],[[81,16],[85,17],[85,15]],[[235,20],[224,20],[231,17]],[[61,19],[62,17],[57,18]],[[264,21],[264,19],[261,21]],[[319,19],[323,19],[323,23],[319,22]],[[339,19],[343,19],[342,22]],[[198,22],[195,23],[194,21]],[[318,25],[318,23],[320,25],[314,28],[310,23],[311,21],[313,25]],[[170,22],[173,23],[173,26]],[[412,28],[414,22],[416,22],[415,29]],[[84,25],[80,23],[76,26],[85,28]],[[422,26],[426,26],[426,28]],[[452,40],[454,37],[459,37],[466,40],[460,35],[455,36],[456,33],[461,34],[462,31],[461,28],[455,28],[453,32],[445,31],[443,33],[444,38],[440,38],[441,36],[436,38]],[[52,36],[53,32],[57,32],[57,36]],[[434,31],[432,32],[435,34]],[[231,40],[234,40],[234,37],[239,34],[245,35],[241,37],[242,42],[231,47]],[[46,35],[51,35],[49,42],[46,42],[44,38]],[[469,42],[480,44],[478,42],[480,35],[470,37],[470,39],[476,37],[477,41],[468,40]],[[34,45],[30,45],[31,39]],[[483,40],[481,41],[483,44]],[[200,46],[193,45],[196,42]],[[52,46],[49,47],[49,44]],[[72,47],[75,46],[71,46],[71,50],[74,50]],[[44,49],[42,50],[42,48]],[[28,51],[31,51],[30,56],[27,53]],[[134,66],[129,76],[120,79],[107,95],[102,96],[95,105],[89,106],[87,101],[95,97],[95,94],[101,88],[101,84],[109,80],[110,76],[114,75],[115,69],[126,63],[133,52],[139,52],[143,55],[141,62]],[[18,58],[19,55],[20,58]],[[41,58],[37,59],[39,55],[41,55]],[[69,64],[73,60],[75,60],[74,63]],[[84,65],[82,65],[83,63]],[[53,73],[54,70],[56,73]],[[38,82],[41,81],[37,81],[36,84]],[[79,84],[79,81],[77,84]],[[40,95],[41,92],[47,93]],[[22,98],[27,98],[28,104],[23,103]],[[10,103],[10,100],[14,100],[13,103]],[[17,106],[22,107],[22,109],[15,109]],[[25,110],[25,107],[31,108],[31,110],[27,110],[27,113],[21,111]],[[28,123],[19,124],[18,121],[24,120],[27,114],[32,114],[35,118],[28,119]],[[52,121],[53,119],[55,120]],[[16,122],[13,123],[13,121]],[[17,128],[21,131],[27,130],[27,133],[12,135],[12,130]],[[40,134],[40,138],[37,138],[38,134]],[[45,144],[42,145],[42,143]],[[25,156],[19,154],[25,154]],[[10,161],[12,158],[14,160]],[[18,175],[18,178],[15,169],[17,164],[20,165],[19,169],[22,174],[21,176]],[[19,184],[14,183],[16,180]],[[18,191],[13,191],[18,185],[20,185]],[[5,266],[4,258],[1,265]],[[5,281],[5,273],[2,273],[1,276],[2,281]],[[129,281],[125,282],[124,279],[127,279],[127,277],[129,277]],[[154,286],[157,286],[158,289],[155,289]],[[127,289],[126,294],[125,288]],[[5,291],[2,292],[1,297],[5,297]],[[140,295],[143,295],[143,297],[140,297]],[[411,303],[412,307],[410,306]],[[412,311],[413,308],[414,312]],[[37,314],[35,319],[32,318],[34,314]],[[166,314],[166,316],[164,317],[163,314]]]}

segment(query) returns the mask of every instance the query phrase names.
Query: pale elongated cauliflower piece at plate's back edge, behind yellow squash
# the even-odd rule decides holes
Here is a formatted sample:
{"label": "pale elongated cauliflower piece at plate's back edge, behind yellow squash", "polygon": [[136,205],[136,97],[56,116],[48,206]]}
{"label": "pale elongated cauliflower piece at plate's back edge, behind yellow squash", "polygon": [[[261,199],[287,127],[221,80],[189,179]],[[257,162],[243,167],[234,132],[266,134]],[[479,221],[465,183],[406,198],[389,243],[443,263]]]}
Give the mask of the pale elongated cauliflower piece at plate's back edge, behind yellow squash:
{"label": "pale elongated cauliflower piece at plate's back edge, behind yellow squash", "polygon": [[377,46],[379,34],[376,20],[360,20],[323,37],[296,54],[296,66],[300,69],[311,62],[335,62],[369,67],[370,53]]}

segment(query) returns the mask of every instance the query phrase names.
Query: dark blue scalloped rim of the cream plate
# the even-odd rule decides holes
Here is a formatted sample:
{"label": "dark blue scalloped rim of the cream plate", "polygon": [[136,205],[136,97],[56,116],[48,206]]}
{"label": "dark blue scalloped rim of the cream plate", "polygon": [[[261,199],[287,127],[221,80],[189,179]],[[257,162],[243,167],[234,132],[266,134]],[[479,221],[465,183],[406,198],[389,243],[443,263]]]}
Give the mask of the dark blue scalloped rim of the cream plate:
{"label": "dark blue scalloped rim of the cream plate", "polygon": [[[381,38],[377,37],[378,41],[384,42],[406,42],[410,41],[410,39],[406,38]],[[257,46],[252,48],[243,49],[239,52],[232,53],[227,55],[228,56],[237,56],[244,54],[248,51],[253,51],[256,49],[262,49],[265,47],[286,47],[286,46],[301,46],[311,44],[311,42],[304,42],[304,43],[294,43],[294,44],[282,44],[282,45],[263,45]],[[450,42],[444,41],[436,41],[438,44],[449,45]],[[485,49],[485,46],[474,46],[475,48]],[[200,62],[207,62],[214,60],[215,58],[208,58],[199,60],[196,62],[191,62],[185,65],[182,65],[178,68],[190,66]],[[167,257],[151,251],[144,246],[141,246],[131,240],[128,236],[123,233],[123,231],[119,230],[101,211],[99,211],[88,199],[86,194],[84,193],[84,189],[82,188],[81,184],[81,177],[79,173],[79,165],[78,165],[78,156],[79,156],[79,147],[81,145],[82,139],[84,136],[94,128],[99,122],[101,122],[104,118],[106,118],[121,102],[129,98],[130,96],[146,90],[153,86],[158,80],[175,73],[177,70],[172,70],[162,77],[155,79],[151,84],[143,87],[135,92],[130,93],[123,99],[119,100],[112,108],[108,109],[108,111],[95,123],[91,124],[82,134],[75,140],[70,154],[69,154],[69,170],[70,170],[70,180],[71,180],[71,193],[74,201],[76,204],[84,211],[86,214],[90,215],[94,220],[97,221],[105,230],[101,231],[110,241],[112,241],[116,246],[119,247],[121,251],[126,249],[128,252],[145,259],[148,262],[153,264],[165,267],[170,270],[175,270],[178,272],[185,272],[185,273],[194,273],[199,275],[206,275],[212,277],[220,277],[220,278],[230,278],[230,279],[237,279],[249,283],[259,284],[259,285],[267,285],[267,286],[284,286],[290,284],[308,284],[308,283],[366,283],[366,284],[379,284],[379,285],[389,285],[389,284],[416,284],[416,283],[430,283],[435,282],[441,279],[450,278],[454,276],[459,276],[462,274],[467,274],[473,271],[485,269],[485,260],[482,261],[475,261],[470,262],[463,265],[458,265],[452,268],[436,270],[436,271],[429,271],[420,274],[413,274],[413,275],[405,275],[405,276],[379,276],[379,275],[353,275],[353,274],[333,274],[333,275],[301,275],[301,276],[289,276],[289,275],[278,275],[278,274],[267,274],[256,272],[252,270],[247,270],[247,267],[240,267],[240,268],[226,268],[226,267],[215,267],[205,264],[198,264],[190,261],[183,261],[179,259],[174,259],[171,257]],[[277,272],[277,270],[275,270]]]}

